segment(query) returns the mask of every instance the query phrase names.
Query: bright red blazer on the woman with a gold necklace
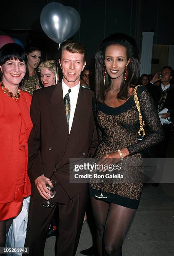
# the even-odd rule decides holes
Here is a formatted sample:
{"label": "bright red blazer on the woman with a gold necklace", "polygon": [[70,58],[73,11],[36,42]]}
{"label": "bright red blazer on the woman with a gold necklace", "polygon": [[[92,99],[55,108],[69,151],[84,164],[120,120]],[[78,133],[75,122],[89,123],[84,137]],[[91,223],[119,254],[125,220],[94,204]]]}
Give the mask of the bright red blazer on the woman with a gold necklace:
{"label": "bright red blazer on the woman with a gold necklace", "polygon": [[27,175],[28,138],[32,129],[30,119],[31,96],[20,91],[18,100],[10,98],[0,88],[0,203],[11,202],[15,197],[19,136],[22,118],[25,121],[25,180],[24,197],[31,194]]}

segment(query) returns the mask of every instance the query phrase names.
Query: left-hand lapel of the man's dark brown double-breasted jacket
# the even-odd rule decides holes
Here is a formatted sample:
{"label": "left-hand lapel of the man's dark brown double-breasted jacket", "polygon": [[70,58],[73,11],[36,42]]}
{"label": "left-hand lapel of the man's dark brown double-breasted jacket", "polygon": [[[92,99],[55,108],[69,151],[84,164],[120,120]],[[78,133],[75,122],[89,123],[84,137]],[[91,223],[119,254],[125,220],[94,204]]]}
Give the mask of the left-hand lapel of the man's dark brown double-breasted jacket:
{"label": "left-hand lapel of the man's dark brown double-breasted jacket", "polygon": [[[57,136],[64,148],[67,148],[67,142],[69,138],[69,131],[67,125],[67,118],[65,113],[65,105],[63,100],[62,83],[57,84],[52,94],[50,102],[47,102],[52,117],[52,122],[57,131]],[[60,146],[60,145],[57,145]]]}

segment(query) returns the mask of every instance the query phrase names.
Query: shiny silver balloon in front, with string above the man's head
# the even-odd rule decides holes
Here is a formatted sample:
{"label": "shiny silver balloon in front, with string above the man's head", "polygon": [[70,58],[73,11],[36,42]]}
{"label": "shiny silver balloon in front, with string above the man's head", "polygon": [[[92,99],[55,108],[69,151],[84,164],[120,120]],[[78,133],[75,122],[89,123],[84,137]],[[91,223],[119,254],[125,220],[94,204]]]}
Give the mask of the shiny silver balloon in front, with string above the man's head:
{"label": "shiny silver balloon in front, with string above the man's head", "polygon": [[40,24],[48,37],[62,44],[71,31],[72,18],[64,5],[49,3],[42,9]]}

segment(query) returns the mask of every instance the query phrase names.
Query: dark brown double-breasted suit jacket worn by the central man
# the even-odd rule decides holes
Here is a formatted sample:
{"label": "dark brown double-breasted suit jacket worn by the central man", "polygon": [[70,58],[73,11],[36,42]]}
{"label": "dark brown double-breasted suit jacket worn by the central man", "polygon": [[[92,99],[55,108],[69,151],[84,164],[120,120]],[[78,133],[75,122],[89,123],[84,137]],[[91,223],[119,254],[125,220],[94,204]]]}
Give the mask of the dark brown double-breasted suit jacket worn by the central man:
{"label": "dark brown double-breasted suit jacket worn by the central man", "polygon": [[[82,192],[87,184],[70,184],[69,159],[92,157],[98,138],[92,112],[94,93],[80,86],[71,132],[68,132],[62,84],[33,93],[33,128],[28,141],[28,174],[32,196],[40,197],[34,181],[44,174],[57,179],[55,202],[65,203]],[[85,189],[86,190],[86,189]]]}

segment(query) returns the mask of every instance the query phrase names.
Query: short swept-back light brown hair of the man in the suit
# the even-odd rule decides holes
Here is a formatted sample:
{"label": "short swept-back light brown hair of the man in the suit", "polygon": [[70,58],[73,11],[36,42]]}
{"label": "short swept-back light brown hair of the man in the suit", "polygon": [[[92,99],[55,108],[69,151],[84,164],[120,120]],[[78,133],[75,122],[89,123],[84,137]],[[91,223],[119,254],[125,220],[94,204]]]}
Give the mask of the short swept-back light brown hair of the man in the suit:
{"label": "short swept-back light brown hair of the man in the suit", "polygon": [[60,59],[62,58],[63,51],[70,51],[72,53],[78,52],[83,54],[83,60],[86,59],[86,47],[83,44],[80,44],[77,41],[67,40],[65,41],[60,48]]}

